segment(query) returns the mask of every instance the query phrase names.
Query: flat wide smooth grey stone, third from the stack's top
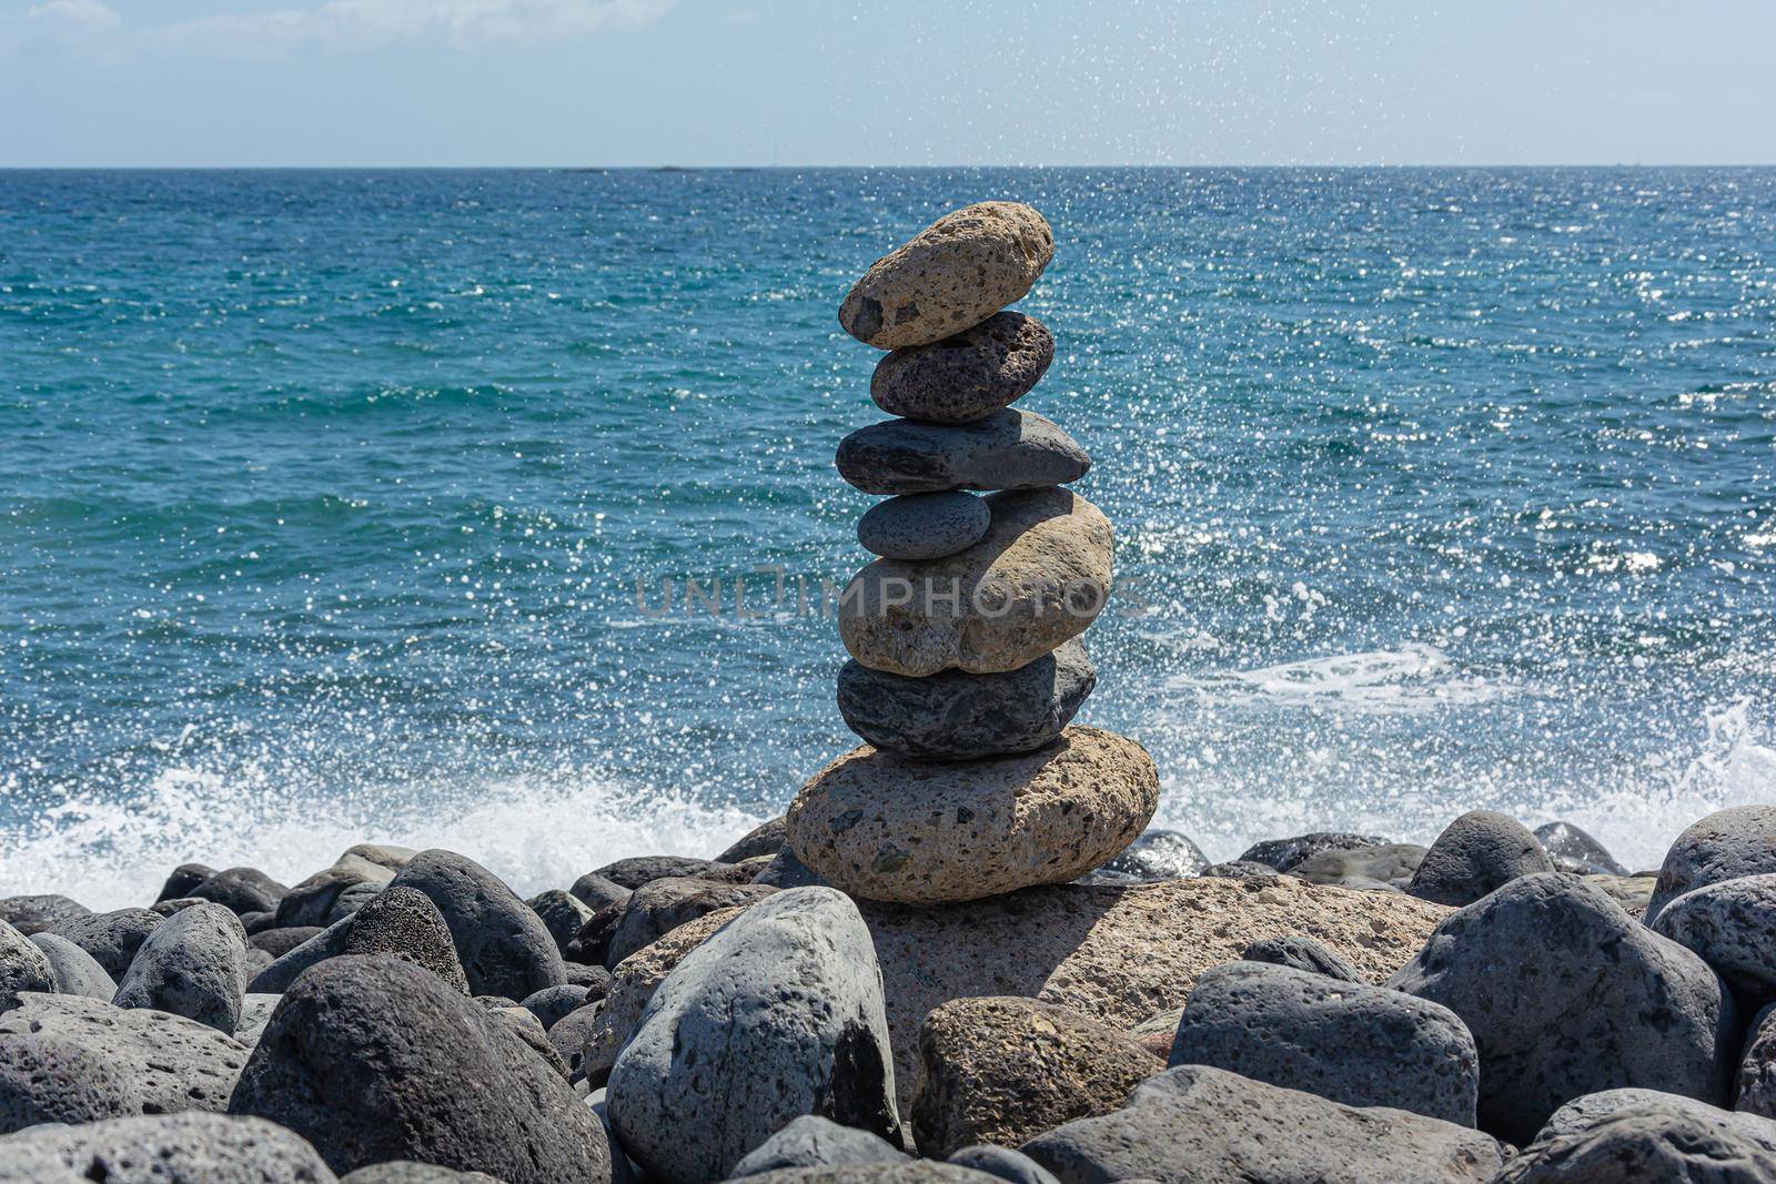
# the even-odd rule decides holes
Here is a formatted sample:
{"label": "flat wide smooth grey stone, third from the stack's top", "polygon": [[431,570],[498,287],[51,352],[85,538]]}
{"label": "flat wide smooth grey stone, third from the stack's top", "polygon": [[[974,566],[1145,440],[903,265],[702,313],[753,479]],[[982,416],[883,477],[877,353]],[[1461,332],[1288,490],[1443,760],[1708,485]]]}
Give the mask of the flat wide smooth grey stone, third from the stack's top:
{"label": "flat wide smooth grey stone, third from the stack's top", "polygon": [[865,493],[1035,490],[1078,481],[1092,458],[1050,419],[1005,408],[966,424],[890,419],[838,442],[838,476]]}

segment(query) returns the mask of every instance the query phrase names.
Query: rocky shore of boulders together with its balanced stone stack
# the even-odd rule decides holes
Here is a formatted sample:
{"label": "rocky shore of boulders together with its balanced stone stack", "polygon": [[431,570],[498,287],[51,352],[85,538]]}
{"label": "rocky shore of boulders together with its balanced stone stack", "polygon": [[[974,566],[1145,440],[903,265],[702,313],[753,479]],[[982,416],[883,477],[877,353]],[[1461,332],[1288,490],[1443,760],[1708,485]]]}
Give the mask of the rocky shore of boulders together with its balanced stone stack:
{"label": "rocky shore of boulders together with its balanced stone stack", "polygon": [[1112,525],[1012,407],[1053,256],[986,202],[840,323],[895,415],[847,588],[863,746],[710,857],[520,900],[361,843],[297,884],[0,900],[0,1184],[1776,1180],[1776,806],[1630,873],[1474,811],[1209,864],[1074,724]]}

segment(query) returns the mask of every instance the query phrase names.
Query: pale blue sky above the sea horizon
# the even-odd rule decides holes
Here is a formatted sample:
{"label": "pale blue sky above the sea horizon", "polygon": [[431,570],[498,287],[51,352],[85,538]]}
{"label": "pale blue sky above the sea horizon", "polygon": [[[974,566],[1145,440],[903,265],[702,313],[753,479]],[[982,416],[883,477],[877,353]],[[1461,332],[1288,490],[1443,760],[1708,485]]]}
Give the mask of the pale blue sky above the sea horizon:
{"label": "pale blue sky above the sea horizon", "polygon": [[1776,0],[0,0],[0,167],[1776,163]]}

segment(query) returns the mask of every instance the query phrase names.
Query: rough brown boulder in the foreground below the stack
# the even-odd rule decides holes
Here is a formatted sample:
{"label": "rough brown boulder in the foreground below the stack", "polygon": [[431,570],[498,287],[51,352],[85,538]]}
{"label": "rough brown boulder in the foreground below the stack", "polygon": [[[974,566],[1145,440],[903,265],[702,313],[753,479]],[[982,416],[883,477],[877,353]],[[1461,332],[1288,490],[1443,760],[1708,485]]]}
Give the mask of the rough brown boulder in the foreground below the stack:
{"label": "rough brown boulder in the foreground below the stack", "polygon": [[1062,1122],[1106,1115],[1165,1065],[1124,1033],[1051,1003],[952,999],[918,1031],[913,1134],[943,1157],[1016,1147]]}

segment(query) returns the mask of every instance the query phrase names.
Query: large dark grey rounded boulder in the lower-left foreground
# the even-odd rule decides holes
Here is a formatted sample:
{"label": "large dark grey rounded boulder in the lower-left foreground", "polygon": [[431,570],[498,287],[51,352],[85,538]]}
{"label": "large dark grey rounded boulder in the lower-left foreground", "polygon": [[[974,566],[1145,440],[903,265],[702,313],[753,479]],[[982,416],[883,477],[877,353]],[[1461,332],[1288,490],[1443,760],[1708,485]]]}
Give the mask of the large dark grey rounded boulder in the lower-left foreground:
{"label": "large dark grey rounded boulder in the lower-left foreground", "polygon": [[604,1129],[574,1088],[499,1019],[398,959],[341,957],[304,973],[229,1113],[289,1127],[334,1172],[419,1159],[506,1184],[611,1179]]}

